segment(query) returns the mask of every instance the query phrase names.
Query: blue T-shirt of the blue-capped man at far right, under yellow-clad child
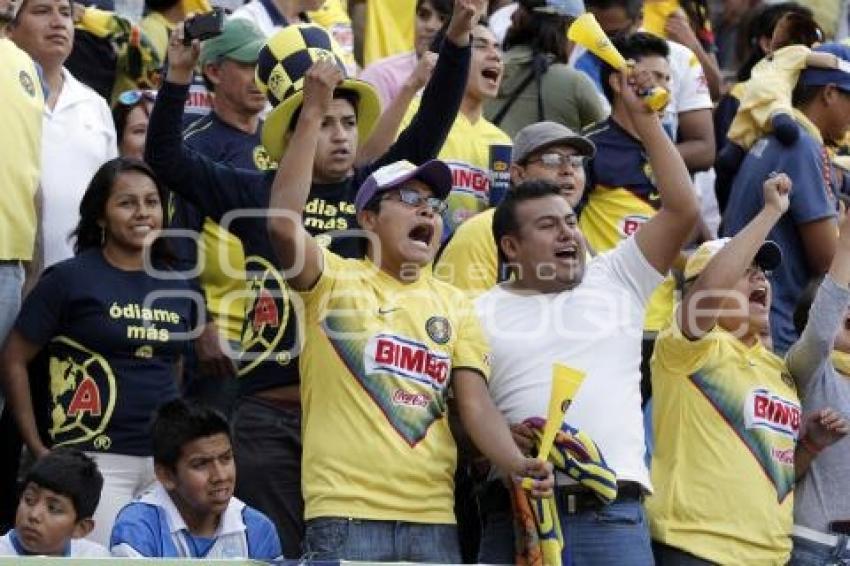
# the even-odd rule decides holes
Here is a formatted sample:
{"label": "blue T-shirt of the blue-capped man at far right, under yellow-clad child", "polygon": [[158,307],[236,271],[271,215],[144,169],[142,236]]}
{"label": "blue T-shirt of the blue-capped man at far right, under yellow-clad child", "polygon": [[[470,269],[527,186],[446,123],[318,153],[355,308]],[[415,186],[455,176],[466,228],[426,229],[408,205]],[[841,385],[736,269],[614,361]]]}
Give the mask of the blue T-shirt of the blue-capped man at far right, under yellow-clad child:
{"label": "blue T-shirt of the blue-capped man at far right, under yellow-clad child", "polygon": [[734,236],[764,207],[762,186],[768,175],[777,171],[791,178],[791,206],[768,234],[768,239],[782,248],[782,265],[771,278],[770,308],[773,345],[780,354],[798,338],[794,330],[794,308],[809,279],[818,275],[809,269],[797,226],[834,217],[838,206],[835,187],[826,182],[836,179],[836,175],[825,170],[824,163],[823,146],[803,128],[800,139],[790,147],[773,136],[761,138],[741,164],[723,218],[722,234]]}

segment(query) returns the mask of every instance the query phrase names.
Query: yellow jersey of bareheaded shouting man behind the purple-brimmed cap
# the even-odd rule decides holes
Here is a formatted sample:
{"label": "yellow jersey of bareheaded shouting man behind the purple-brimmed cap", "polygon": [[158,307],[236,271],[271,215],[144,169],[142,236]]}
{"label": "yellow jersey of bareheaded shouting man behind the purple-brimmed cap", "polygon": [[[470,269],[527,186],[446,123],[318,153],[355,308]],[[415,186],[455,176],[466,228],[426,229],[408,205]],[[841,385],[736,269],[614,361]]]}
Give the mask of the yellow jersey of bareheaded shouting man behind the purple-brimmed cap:
{"label": "yellow jersey of bareheaded shouting man behind the purple-brimmed cap", "polygon": [[[407,109],[401,129],[419,109],[415,100]],[[449,238],[467,218],[485,210],[490,202],[490,146],[511,145],[511,138],[483,116],[474,124],[458,112],[440,150],[439,159],[452,170],[452,192],[446,199],[443,239]]]}

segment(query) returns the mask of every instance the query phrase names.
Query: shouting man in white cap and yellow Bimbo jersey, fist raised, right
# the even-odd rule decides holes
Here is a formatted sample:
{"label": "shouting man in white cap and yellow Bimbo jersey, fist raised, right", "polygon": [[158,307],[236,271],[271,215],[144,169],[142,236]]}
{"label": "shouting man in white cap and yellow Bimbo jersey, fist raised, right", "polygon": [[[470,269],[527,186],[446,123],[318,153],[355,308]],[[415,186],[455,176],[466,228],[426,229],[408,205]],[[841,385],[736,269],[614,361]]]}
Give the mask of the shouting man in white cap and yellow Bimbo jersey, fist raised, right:
{"label": "shouting man in white cap and yellow Bimbo jersey, fist raised, right", "polygon": [[[794,484],[810,460],[797,440],[822,425],[801,423],[794,382],[759,339],[766,274],[782,260],[765,237],[788,210],[791,179],[762,190],[761,211],[734,238],[690,257],[690,288],[656,343],[647,512],[662,565],[785,564],[791,551]],[[824,437],[838,439],[818,434],[815,445]]]}

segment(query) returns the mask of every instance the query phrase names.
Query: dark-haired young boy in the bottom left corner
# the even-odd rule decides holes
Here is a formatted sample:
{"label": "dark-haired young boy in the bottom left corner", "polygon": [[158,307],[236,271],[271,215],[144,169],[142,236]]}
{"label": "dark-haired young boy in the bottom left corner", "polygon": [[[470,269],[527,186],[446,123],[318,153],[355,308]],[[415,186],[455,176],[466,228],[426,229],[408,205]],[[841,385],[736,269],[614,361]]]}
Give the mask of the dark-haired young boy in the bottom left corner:
{"label": "dark-haired young boy in the bottom left corner", "polygon": [[74,448],[56,448],[30,470],[15,528],[0,537],[0,556],[103,557],[85,540],[94,528],[103,476],[94,460]]}

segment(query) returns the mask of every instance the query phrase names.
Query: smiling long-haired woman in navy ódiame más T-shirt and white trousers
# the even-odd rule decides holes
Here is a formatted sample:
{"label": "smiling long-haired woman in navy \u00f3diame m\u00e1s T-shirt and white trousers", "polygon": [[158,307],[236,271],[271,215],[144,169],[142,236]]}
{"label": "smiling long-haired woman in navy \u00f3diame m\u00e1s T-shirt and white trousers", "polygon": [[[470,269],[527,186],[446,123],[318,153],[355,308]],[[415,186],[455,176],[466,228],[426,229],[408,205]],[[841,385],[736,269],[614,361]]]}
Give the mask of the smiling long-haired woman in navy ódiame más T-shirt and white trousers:
{"label": "smiling long-haired woman in navy \u00f3diame m\u00e1s T-shirt and white trousers", "polygon": [[[9,404],[36,456],[29,380],[49,380],[52,446],[90,454],[104,476],[89,538],[107,544],[120,508],[153,482],[151,416],[178,396],[177,376],[196,309],[168,269],[159,238],[165,191],[141,161],[118,158],[95,174],[80,203],[76,256],[45,271],[25,299],[3,352]],[[48,375],[30,375],[39,351]]]}

